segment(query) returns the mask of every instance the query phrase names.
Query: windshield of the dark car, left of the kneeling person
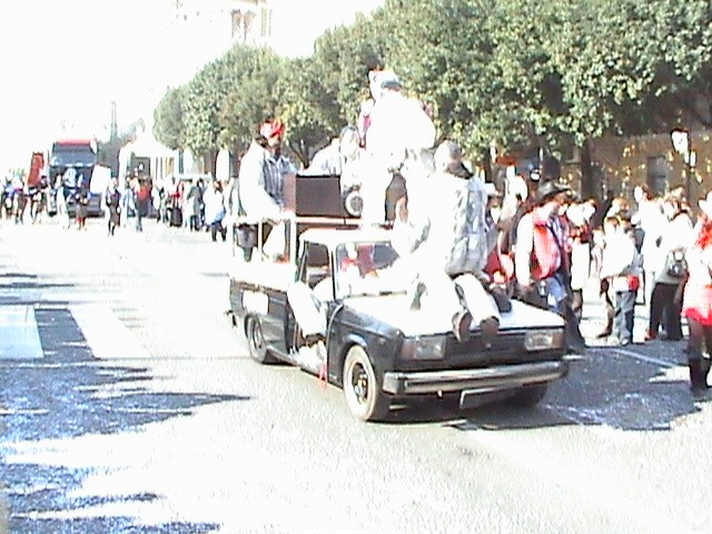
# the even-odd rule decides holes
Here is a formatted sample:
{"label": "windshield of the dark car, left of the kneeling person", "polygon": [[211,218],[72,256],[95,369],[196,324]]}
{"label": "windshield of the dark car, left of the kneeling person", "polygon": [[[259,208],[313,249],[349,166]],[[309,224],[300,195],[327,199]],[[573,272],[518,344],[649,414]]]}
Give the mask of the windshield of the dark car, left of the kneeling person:
{"label": "windshield of the dark car, left of the kneeling person", "polygon": [[405,293],[398,254],[388,241],[348,243],[336,247],[336,295],[339,298]]}

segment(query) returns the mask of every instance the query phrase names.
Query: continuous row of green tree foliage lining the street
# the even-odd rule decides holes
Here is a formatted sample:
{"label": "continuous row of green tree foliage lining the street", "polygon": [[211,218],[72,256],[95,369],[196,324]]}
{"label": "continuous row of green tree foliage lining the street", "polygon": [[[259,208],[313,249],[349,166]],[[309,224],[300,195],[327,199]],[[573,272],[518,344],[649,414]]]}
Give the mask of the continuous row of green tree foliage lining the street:
{"label": "continuous row of green tree foliage lining the street", "polygon": [[431,105],[441,138],[556,150],[609,134],[712,126],[709,0],[386,0],[326,31],[309,58],[237,46],[166,93],[156,136],[197,152],[238,149],[266,116],[307,162],[353,123],[367,72],[395,70]]}

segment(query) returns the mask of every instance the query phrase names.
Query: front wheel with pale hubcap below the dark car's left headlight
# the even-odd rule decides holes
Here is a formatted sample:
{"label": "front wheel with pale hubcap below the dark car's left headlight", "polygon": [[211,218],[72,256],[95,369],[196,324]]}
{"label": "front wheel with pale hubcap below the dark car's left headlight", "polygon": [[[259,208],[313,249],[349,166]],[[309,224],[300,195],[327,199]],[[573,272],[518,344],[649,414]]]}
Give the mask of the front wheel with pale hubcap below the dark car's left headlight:
{"label": "front wheel with pale hubcap below the dark car's left headlight", "polygon": [[344,363],[344,396],[350,413],[362,421],[382,421],[388,414],[390,399],[380,390],[366,350],[349,348]]}

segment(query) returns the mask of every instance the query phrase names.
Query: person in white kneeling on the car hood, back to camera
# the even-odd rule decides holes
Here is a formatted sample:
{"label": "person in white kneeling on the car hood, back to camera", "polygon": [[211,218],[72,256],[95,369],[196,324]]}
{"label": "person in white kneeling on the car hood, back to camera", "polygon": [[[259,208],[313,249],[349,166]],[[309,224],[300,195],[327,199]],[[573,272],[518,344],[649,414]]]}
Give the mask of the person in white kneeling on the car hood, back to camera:
{"label": "person in white kneeling on the car hood, back to camera", "polygon": [[[436,171],[408,190],[407,209],[394,224],[394,246],[407,258],[415,279],[413,307],[432,307],[453,319],[455,337],[469,337],[479,325],[485,345],[500,328],[501,315],[485,289],[487,191],[462,162],[462,149],[443,141]],[[415,184],[414,184],[415,185]],[[403,207],[403,206],[402,206]]]}

